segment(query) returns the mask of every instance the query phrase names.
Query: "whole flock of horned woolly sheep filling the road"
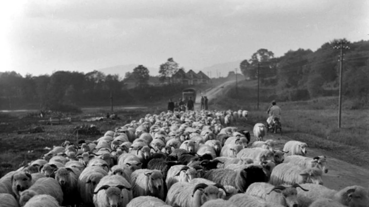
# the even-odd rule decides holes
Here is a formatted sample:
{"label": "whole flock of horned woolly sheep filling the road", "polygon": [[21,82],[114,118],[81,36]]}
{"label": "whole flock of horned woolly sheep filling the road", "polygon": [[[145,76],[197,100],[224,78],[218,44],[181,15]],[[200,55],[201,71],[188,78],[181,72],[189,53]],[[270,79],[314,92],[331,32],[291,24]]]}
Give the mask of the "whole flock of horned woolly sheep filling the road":
{"label": "whole flock of horned woolly sheep filling the road", "polygon": [[[283,150],[247,111],[147,114],[97,140],[65,141],[0,179],[1,207],[368,207],[368,191],[324,186],[324,155]],[[250,141],[252,143],[250,143]]]}

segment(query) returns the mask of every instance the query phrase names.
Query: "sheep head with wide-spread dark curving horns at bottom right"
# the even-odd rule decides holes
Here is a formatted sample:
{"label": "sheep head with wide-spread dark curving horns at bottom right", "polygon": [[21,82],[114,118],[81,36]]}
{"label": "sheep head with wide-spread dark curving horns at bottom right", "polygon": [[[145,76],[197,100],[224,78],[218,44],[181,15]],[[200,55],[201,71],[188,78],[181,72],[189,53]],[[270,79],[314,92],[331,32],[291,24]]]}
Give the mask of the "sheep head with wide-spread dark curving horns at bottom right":
{"label": "sheep head with wide-spread dark curving horns at bottom right", "polygon": [[267,195],[269,195],[270,193],[272,193],[273,191],[280,193],[284,199],[284,205],[283,206],[299,206],[299,201],[297,200],[297,190],[296,187],[300,187],[302,190],[304,191],[308,191],[306,189],[304,189],[303,187],[301,187],[299,184],[295,183],[290,187],[286,187],[286,186],[275,186],[273,187],[272,190],[270,190],[269,193],[267,193]]}

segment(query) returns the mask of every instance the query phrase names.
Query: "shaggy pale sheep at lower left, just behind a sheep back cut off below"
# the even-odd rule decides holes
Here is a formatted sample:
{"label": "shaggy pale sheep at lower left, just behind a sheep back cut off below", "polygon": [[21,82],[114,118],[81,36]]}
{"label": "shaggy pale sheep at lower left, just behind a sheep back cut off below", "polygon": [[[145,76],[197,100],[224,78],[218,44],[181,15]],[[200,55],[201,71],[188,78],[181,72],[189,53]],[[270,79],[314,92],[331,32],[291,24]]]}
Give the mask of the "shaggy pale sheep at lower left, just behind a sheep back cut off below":
{"label": "shaggy pale sheep at lower left, just behind a sheep back cut off below", "polygon": [[58,181],[54,178],[40,178],[30,188],[20,193],[19,204],[24,206],[32,197],[42,194],[54,197],[59,205],[63,203],[63,191]]}

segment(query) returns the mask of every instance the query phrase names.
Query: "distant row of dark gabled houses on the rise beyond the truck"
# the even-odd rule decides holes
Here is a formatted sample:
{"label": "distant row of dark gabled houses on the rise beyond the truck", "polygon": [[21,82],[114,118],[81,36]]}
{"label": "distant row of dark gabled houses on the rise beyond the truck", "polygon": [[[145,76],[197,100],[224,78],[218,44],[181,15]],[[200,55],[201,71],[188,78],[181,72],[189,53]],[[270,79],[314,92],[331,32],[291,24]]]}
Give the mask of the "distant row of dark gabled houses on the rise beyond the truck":
{"label": "distant row of dark gabled houses on the rise beyond the truck", "polygon": [[173,74],[171,79],[172,83],[185,85],[208,84],[211,82],[211,79],[202,71],[195,73],[193,70],[189,70],[186,73],[183,69],[179,69],[175,74]]}

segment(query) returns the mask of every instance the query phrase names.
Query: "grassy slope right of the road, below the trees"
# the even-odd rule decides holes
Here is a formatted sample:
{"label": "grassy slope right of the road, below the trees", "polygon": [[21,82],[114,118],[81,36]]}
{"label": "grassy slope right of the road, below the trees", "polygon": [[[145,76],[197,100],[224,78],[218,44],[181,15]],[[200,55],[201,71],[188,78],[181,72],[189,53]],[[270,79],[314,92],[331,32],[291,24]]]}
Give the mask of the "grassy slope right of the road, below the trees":
{"label": "grassy slope right of the road, below the trees", "polygon": [[[211,103],[217,109],[249,110],[249,120],[245,124],[266,121],[269,105],[261,97],[259,110],[256,108],[257,90],[255,83],[244,83],[238,90],[242,98],[227,95]],[[271,89],[263,88],[261,96]],[[304,141],[312,148],[327,151],[327,155],[369,169],[369,110],[342,110],[341,129],[337,128],[337,97],[323,97],[310,101],[279,102],[282,108],[283,135]],[[278,101],[278,100],[277,100]],[[285,137],[284,137],[285,138]]]}

